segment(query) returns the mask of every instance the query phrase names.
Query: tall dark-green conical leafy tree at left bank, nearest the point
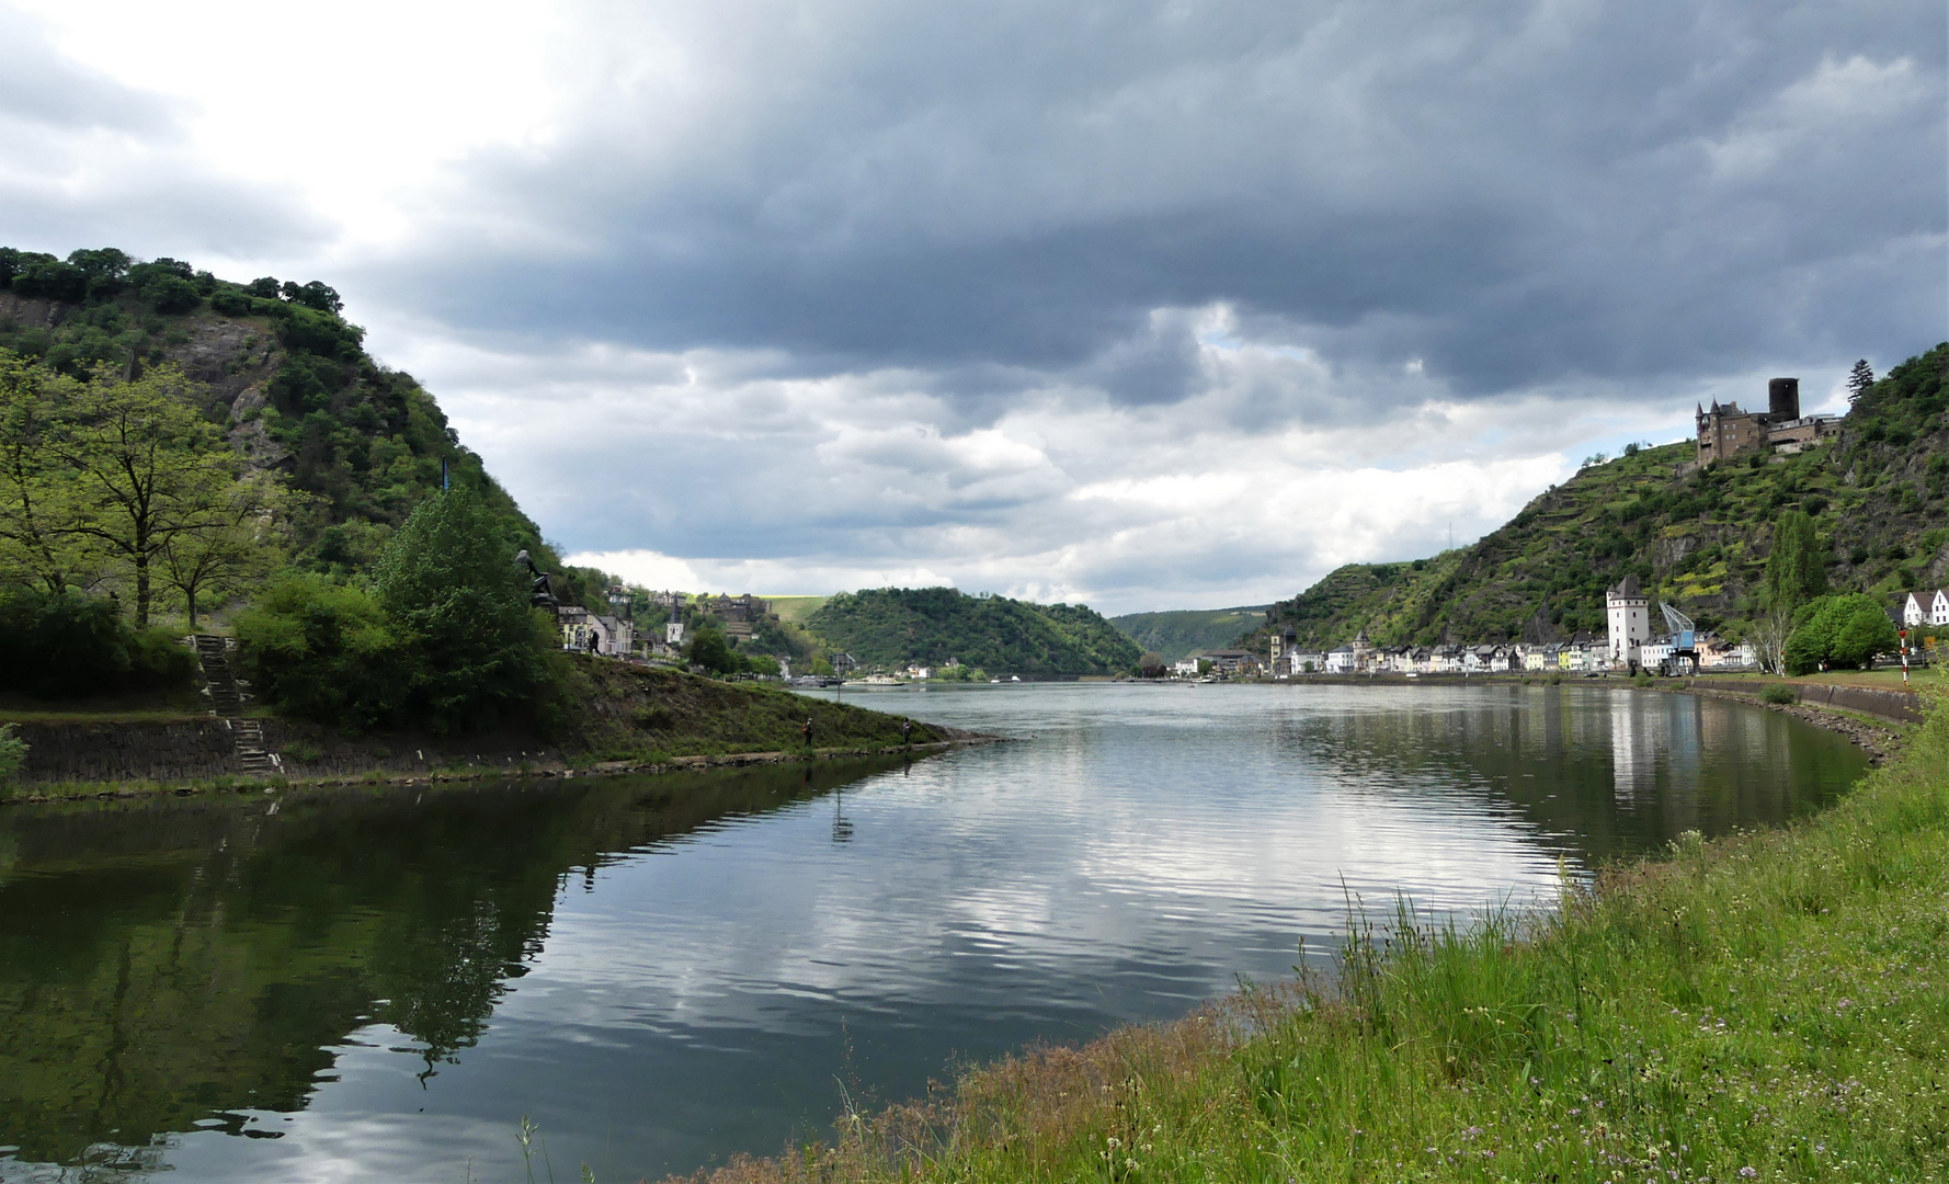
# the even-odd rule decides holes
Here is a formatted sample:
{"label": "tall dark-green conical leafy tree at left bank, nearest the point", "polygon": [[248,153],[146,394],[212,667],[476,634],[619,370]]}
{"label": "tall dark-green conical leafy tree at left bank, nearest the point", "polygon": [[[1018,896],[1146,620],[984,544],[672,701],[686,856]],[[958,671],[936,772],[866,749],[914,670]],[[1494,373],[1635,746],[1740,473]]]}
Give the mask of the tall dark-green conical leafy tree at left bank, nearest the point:
{"label": "tall dark-green conical leafy tree at left bank, nearest the point", "polygon": [[374,591],[411,651],[411,710],[437,731],[524,714],[550,683],[554,628],[530,605],[507,523],[466,488],[392,536]]}

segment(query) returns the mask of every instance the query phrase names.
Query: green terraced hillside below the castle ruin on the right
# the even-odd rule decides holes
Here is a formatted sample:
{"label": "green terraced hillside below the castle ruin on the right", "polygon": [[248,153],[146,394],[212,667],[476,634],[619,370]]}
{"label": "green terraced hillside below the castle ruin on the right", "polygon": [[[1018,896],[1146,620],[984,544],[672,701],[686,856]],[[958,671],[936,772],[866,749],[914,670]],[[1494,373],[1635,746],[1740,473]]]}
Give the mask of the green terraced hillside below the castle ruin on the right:
{"label": "green terraced hillside below the castle ruin on the right", "polygon": [[1604,589],[1635,573],[1701,628],[1742,636],[1774,523],[1813,517],[1836,591],[1892,597],[1949,579],[1949,343],[1875,382],[1840,437],[1797,456],[1694,470],[1692,441],[1585,466],[1481,540],[1429,560],[1349,564],[1240,644],[1294,626],[1304,646],[1548,642],[1604,632]]}

